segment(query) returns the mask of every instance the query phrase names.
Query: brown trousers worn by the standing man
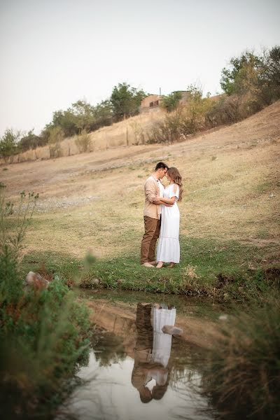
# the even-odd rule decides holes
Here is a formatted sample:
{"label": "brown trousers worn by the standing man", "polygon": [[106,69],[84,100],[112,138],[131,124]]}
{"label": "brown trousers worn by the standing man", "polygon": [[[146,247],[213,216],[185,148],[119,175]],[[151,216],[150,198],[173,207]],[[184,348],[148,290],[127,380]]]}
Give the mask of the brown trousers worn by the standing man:
{"label": "brown trousers worn by the standing man", "polygon": [[160,220],[144,216],[145,233],[141,243],[141,264],[155,261],[155,244],[160,236]]}

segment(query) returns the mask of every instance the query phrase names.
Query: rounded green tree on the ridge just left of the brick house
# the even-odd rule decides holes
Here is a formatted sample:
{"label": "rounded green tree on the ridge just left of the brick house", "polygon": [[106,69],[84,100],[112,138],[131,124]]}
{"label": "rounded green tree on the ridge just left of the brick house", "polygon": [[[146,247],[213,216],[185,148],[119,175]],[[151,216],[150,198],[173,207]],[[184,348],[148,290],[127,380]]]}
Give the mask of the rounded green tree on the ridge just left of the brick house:
{"label": "rounded green tree on the ridge just left of the brick house", "polygon": [[118,86],[114,86],[110,99],[113,116],[119,121],[137,115],[141,100],[146,95],[144,90],[137,90],[136,87],[131,87],[127,83],[119,83]]}

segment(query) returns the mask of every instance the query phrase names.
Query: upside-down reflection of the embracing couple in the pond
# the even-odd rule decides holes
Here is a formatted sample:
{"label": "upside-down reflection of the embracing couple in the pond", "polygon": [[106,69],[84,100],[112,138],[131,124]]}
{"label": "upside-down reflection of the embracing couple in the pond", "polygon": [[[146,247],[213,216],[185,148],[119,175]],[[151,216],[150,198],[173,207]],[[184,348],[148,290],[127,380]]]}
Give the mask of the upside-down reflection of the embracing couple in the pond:
{"label": "upside-down reflection of the embracing couple in the pond", "polygon": [[[132,385],[139,391],[142,402],[160,400],[168,386],[168,361],[172,335],[162,332],[164,325],[174,325],[175,308],[151,304],[137,305],[137,342],[134,348]],[[149,382],[155,380],[152,390]]]}

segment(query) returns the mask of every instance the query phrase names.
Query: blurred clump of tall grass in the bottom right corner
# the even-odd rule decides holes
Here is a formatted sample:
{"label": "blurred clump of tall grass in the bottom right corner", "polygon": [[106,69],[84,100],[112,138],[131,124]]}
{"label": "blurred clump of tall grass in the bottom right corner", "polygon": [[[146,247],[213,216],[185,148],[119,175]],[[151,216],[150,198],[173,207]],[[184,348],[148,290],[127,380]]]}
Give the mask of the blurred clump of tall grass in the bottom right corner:
{"label": "blurred clump of tall grass in the bottom right corner", "polygon": [[214,337],[204,392],[219,418],[280,418],[280,302],[269,300]]}

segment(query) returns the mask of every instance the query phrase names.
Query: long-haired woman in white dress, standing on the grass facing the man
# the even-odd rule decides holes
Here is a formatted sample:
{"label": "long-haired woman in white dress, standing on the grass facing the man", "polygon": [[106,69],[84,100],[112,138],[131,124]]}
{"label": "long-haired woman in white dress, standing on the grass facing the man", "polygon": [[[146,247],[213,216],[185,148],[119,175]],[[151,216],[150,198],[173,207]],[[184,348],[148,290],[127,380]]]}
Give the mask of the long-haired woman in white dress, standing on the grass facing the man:
{"label": "long-haired woman in white dress, standing on the grass facing the man", "polygon": [[172,207],[162,205],[162,223],[160,226],[160,238],[157,249],[157,268],[161,268],[164,262],[170,262],[169,268],[180,262],[179,223],[180,211],[177,201],[182,200],[183,184],[182,177],[177,168],[171,167],[167,171],[169,186],[165,188],[163,197],[157,197]]}

